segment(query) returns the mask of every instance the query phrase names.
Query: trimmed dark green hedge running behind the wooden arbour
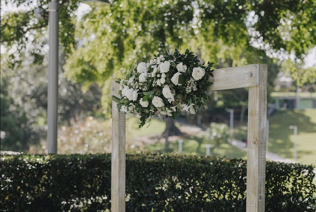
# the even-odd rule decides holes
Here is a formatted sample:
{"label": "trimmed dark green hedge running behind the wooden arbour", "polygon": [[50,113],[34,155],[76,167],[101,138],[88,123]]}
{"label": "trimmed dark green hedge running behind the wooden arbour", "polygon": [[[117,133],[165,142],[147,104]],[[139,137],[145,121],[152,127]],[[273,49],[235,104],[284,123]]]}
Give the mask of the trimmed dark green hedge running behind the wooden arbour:
{"label": "trimmed dark green hedge running behind the wooden arbour", "polygon": [[[313,166],[267,161],[266,211],[316,210]],[[109,211],[111,155],[1,157],[1,211]],[[126,211],[246,211],[246,161],[126,156]]]}

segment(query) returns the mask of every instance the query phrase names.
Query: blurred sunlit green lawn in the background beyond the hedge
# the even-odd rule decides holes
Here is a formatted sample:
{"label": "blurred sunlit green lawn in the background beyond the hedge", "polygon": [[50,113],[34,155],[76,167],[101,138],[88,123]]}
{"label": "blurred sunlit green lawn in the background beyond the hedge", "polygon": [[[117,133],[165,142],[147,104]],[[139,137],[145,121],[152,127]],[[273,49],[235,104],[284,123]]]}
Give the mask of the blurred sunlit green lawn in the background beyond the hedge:
{"label": "blurred sunlit green lawn in the background beyond the hedge", "polygon": [[[297,135],[297,162],[304,164],[316,164],[316,109],[285,110],[278,111],[268,117],[269,128],[269,151],[281,157],[294,159],[294,133],[289,125],[298,127]],[[147,128],[138,129],[138,118],[127,117],[127,136],[142,136],[160,134],[165,129],[165,123],[152,119]],[[247,137],[247,123],[238,125],[235,123],[234,137],[242,140]],[[212,144],[204,139],[202,135],[194,135],[183,138],[183,153],[205,155],[204,144]],[[214,145],[214,144],[213,144]],[[178,142],[170,142],[170,152],[178,152]],[[145,146],[150,151],[164,151],[164,142]],[[228,143],[221,143],[218,149],[211,148],[212,155],[226,156],[228,158],[246,158],[246,151],[240,150]]]}

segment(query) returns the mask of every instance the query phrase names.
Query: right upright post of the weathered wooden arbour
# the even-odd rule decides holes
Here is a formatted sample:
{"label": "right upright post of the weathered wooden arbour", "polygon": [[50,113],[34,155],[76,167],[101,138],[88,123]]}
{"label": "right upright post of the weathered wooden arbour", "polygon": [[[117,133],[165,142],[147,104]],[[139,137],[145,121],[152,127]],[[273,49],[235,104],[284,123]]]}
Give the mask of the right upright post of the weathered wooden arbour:
{"label": "right upright post of the weathered wooden arbour", "polygon": [[264,211],[267,66],[256,64],[259,85],[249,88],[246,211]]}

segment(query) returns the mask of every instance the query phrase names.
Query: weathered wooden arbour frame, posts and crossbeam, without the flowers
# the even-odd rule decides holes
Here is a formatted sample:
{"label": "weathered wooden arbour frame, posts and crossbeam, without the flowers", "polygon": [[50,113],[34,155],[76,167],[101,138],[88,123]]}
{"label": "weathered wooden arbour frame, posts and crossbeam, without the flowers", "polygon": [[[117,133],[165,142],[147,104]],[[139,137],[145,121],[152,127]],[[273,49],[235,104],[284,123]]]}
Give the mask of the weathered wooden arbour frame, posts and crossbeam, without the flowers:
{"label": "weathered wooden arbour frame, posts and crossbeam, without the flowers", "polygon": [[[252,64],[216,69],[209,90],[249,87],[246,212],[264,212],[267,65]],[[110,96],[119,85],[111,82]],[[112,101],[111,211],[125,212],[125,114]]]}

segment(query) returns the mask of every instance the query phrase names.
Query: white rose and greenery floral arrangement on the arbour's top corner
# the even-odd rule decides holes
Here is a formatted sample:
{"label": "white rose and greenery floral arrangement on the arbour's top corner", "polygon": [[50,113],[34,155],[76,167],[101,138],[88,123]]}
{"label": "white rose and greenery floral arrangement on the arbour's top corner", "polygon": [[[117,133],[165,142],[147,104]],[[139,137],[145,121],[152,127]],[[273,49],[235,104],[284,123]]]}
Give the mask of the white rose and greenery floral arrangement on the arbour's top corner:
{"label": "white rose and greenery floral arrangement on the arbour's top corner", "polygon": [[155,114],[175,119],[181,110],[194,114],[210,97],[205,93],[213,83],[212,66],[200,65],[192,52],[154,55],[153,60],[136,63],[120,84],[119,97],[112,96],[120,112],[140,115],[139,128]]}

